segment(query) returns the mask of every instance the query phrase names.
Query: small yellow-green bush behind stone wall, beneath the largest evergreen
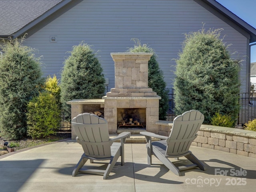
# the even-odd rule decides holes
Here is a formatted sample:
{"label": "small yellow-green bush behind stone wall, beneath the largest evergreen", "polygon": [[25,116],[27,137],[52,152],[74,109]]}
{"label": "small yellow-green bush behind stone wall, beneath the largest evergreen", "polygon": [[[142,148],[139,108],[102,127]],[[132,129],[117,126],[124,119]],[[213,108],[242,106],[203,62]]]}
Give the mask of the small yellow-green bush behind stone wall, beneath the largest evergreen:
{"label": "small yellow-green bush behind stone wall, beneath the largest evergreen", "polygon": [[211,125],[215,126],[221,126],[221,127],[232,127],[234,128],[234,120],[232,120],[230,115],[223,115],[220,113],[216,113],[212,118],[211,118]]}

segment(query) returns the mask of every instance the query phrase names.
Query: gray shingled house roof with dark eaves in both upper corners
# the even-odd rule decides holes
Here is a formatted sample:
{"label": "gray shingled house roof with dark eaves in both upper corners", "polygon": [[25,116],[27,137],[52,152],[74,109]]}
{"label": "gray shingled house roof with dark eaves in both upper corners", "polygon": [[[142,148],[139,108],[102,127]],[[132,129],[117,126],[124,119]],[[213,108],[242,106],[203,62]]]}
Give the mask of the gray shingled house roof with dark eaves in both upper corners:
{"label": "gray shingled house roof with dark eaves in both upper corners", "polygon": [[[46,20],[64,6],[75,6],[82,0],[0,0],[0,37],[16,38]],[[256,29],[224,8],[215,0],[194,0],[206,9],[216,11],[250,35],[256,42]],[[2,6],[4,5],[4,6]],[[207,7],[208,6],[208,7]]]}

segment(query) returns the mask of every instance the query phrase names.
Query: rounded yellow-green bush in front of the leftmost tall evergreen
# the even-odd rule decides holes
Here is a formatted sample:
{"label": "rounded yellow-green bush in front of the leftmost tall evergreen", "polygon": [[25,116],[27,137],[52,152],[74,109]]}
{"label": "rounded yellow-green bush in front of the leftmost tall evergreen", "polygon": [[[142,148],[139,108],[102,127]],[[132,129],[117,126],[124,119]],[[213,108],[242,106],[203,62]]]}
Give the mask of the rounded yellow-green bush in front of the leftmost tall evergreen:
{"label": "rounded yellow-green bush in front of the leftmost tall evergreen", "polygon": [[28,103],[28,136],[45,138],[56,133],[60,123],[60,110],[54,96],[44,91]]}

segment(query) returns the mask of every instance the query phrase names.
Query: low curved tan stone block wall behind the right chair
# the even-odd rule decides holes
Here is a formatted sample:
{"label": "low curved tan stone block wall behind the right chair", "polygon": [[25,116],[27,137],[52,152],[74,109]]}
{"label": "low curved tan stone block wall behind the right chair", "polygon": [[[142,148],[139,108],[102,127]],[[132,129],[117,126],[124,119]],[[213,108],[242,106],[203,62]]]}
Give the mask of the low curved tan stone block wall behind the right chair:
{"label": "low curved tan stone block wall behind the right chair", "polygon": [[[172,122],[159,121],[156,124],[159,127],[159,134],[170,134]],[[255,131],[202,125],[192,145],[256,158]]]}

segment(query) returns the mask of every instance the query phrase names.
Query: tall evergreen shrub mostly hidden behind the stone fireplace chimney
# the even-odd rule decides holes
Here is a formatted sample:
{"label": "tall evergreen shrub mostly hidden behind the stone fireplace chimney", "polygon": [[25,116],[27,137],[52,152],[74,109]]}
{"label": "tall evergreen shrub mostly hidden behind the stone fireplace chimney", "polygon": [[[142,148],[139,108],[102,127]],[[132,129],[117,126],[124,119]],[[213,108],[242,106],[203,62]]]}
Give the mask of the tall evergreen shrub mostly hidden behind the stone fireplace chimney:
{"label": "tall evergreen shrub mostly hidden behind the stone fireplace chimney", "polygon": [[139,40],[133,40],[135,45],[133,48],[129,48],[129,52],[153,53],[148,61],[148,87],[152,88],[153,91],[161,97],[161,100],[159,100],[159,120],[166,120],[166,112],[168,110],[168,89],[166,88],[163,72],[160,70],[158,62],[156,61],[156,53],[152,48],[148,47],[147,44],[141,45]]}

